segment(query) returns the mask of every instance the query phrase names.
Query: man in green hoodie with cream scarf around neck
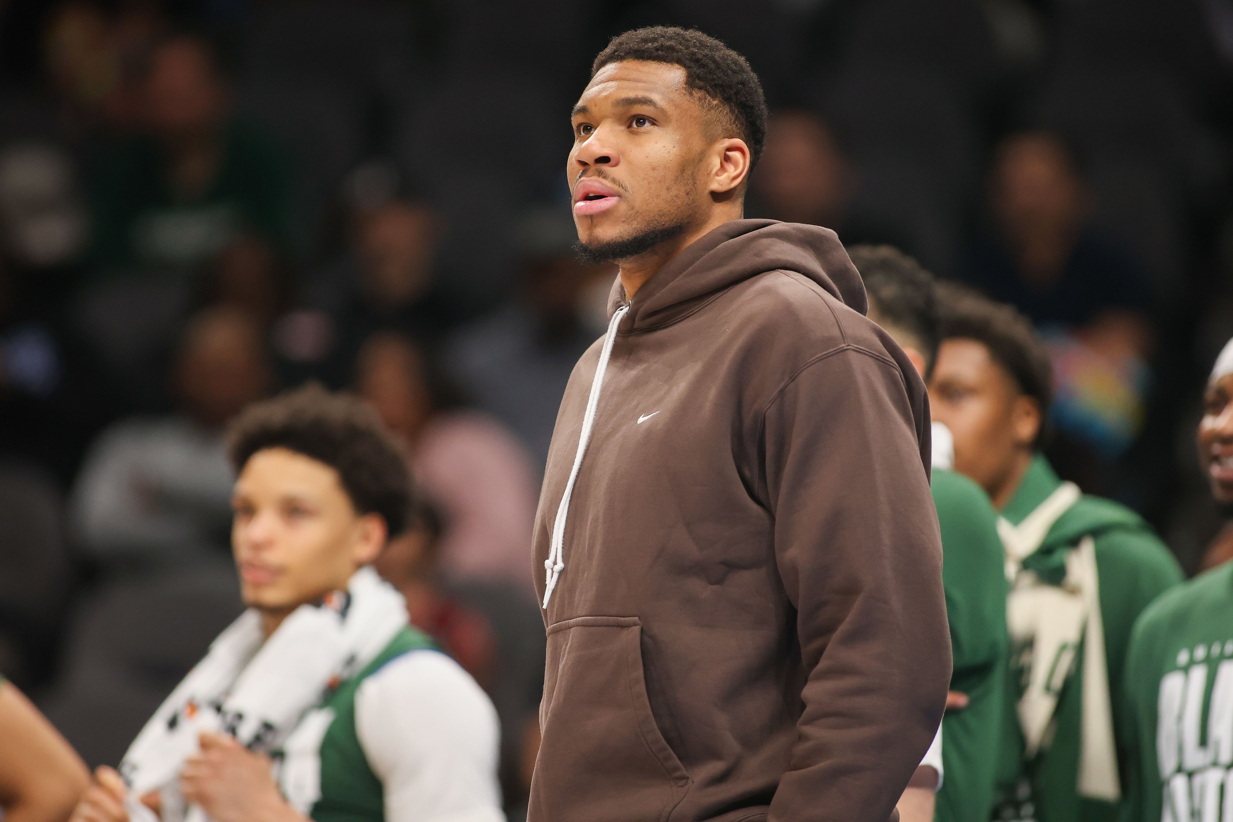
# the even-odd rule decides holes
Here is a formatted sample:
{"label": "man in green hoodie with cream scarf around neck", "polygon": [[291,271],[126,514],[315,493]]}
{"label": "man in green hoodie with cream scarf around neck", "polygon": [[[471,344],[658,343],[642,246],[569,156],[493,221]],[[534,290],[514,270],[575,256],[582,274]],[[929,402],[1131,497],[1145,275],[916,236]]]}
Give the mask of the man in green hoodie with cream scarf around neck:
{"label": "man in green hoodie with cream scarf around neck", "polygon": [[1126,651],[1136,617],[1181,569],[1133,511],[1063,482],[1039,452],[1052,398],[1048,355],[1014,308],[938,288],[933,418],[954,467],[1000,511],[1010,582],[1007,707],[995,820],[1112,820],[1129,733]]}

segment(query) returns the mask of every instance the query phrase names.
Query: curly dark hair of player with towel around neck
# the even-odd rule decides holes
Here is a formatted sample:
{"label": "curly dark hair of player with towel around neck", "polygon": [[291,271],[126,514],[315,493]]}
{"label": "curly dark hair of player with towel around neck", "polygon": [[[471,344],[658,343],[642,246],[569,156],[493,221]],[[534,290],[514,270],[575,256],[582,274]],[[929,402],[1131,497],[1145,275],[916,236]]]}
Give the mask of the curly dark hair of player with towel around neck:
{"label": "curly dark hair of player with towel around neck", "polygon": [[338,472],[358,513],[379,514],[388,536],[407,529],[413,502],[407,457],[363,399],[309,383],[253,403],[227,426],[227,456],[239,473],[265,449],[324,462]]}

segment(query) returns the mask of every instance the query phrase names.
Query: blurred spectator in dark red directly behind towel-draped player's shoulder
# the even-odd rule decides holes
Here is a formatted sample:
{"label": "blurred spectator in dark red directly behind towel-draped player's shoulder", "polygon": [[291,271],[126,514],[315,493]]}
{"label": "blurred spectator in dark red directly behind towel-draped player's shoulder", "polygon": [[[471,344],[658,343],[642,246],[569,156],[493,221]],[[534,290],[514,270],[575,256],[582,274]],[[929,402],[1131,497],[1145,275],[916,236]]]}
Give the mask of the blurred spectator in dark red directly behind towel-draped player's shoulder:
{"label": "blurred spectator in dark red directly behind towel-draped player's shoulder", "polygon": [[441,584],[444,523],[429,503],[412,510],[407,530],[390,540],[374,567],[407,600],[411,624],[436,643],[488,693],[493,688],[496,640],[488,620]]}

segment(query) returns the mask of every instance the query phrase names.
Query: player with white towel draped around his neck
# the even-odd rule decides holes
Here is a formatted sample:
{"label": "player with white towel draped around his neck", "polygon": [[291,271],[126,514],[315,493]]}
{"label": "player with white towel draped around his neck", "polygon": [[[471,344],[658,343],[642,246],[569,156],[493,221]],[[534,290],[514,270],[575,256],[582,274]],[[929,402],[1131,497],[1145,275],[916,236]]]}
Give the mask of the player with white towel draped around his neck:
{"label": "player with white towel draped around his neck", "polygon": [[228,454],[248,610],[74,822],[503,821],[492,704],[369,567],[409,507],[376,413],[311,386],[250,405]]}

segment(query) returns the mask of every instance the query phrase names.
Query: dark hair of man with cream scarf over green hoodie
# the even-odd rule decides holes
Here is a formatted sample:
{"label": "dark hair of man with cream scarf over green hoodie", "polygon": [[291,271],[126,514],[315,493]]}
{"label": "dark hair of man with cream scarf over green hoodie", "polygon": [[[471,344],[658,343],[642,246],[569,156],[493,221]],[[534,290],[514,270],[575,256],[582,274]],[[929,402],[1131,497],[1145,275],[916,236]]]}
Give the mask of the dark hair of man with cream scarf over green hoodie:
{"label": "dark hair of man with cream scarf over green hoodie", "polygon": [[[1046,417],[1053,403],[1053,364],[1031,320],[1014,306],[956,282],[937,285],[937,304],[940,340],[968,339],[983,344],[994,362],[1039,404]],[[1033,445],[1041,445],[1046,435],[1042,424]]]}

